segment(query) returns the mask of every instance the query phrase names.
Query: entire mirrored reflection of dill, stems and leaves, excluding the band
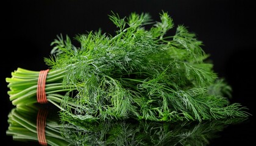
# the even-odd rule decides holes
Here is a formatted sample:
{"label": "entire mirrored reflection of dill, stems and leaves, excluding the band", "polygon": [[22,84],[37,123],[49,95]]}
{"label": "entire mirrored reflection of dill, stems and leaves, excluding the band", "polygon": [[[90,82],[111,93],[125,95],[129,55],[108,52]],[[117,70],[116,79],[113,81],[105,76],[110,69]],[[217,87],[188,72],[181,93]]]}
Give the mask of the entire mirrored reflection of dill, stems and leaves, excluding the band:
{"label": "entire mirrored reflection of dill, stems and leaves, excluding the band", "polygon": [[37,114],[49,112],[46,119],[48,145],[208,145],[218,132],[244,118],[204,120],[203,122],[153,122],[147,120],[108,120],[107,122],[62,123],[58,112],[38,105],[20,106],[9,113],[7,135],[15,141],[38,141]]}

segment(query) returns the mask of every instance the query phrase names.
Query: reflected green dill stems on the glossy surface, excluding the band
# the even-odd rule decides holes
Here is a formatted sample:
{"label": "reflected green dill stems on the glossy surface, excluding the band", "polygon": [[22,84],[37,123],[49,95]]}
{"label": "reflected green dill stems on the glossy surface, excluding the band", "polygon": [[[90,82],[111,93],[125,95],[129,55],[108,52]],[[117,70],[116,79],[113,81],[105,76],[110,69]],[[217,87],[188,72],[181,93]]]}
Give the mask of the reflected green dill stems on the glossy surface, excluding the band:
{"label": "reflected green dill stems on the glossy surface, excluding the band", "polygon": [[[60,133],[60,120],[55,108],[51,106],[26,105],[13,108],[8,115],[9,127],[6,134],[15,141],[38,142],[37,119],[40,109],[47,111],[45,136],[48,145],[61,146],[70,144]],[[49,112],[50,111],[50,112]]]}

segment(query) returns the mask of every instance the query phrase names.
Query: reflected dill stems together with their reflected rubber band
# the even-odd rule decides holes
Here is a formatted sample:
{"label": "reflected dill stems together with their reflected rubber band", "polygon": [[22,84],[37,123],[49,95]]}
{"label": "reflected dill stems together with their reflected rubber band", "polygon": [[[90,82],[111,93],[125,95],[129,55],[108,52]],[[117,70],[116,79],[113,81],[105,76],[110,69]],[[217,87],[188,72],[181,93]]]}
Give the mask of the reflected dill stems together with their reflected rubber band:
{"label": "reflected dill stems together with their reflected rubber band", "polygon": [[51,112],[46,119],[48,111],[45,110],[47,109],[35,105],[12,109],[8,116],[10,125],[6,131],[7,135],[12,135],[15,141],[38,141],[40,145],[53,146],[68,145],[68,139],[60,133],[59,117]]}

